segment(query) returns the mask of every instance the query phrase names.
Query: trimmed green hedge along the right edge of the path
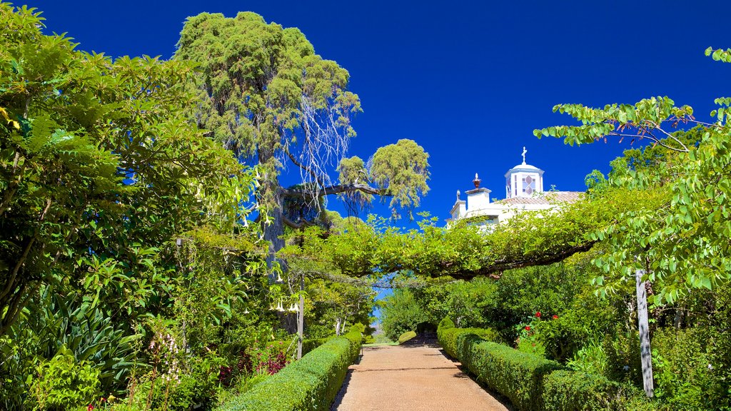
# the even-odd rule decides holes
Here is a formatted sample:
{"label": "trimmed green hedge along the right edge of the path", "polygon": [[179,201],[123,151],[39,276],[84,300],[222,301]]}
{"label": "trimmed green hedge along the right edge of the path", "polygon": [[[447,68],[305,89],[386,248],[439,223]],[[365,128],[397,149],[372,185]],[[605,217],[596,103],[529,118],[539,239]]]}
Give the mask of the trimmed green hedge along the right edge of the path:
{"label": "trimmed green hedge along the right edge of the path", "polygon": [[437,335],[449,355],[520,411],[624,410],[624,404],[639,400],[637,392],[600,375],[570,371],[556,361],[486,341],[497,338],[490,329],[454,328],[444,319]]}

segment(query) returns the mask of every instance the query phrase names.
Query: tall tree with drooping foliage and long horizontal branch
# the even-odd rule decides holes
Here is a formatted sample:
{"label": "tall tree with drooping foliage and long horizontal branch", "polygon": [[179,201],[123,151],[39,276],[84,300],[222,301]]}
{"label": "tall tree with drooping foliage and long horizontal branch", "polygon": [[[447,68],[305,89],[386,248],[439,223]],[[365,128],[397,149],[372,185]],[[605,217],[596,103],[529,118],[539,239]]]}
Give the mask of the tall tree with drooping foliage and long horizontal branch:
{"label": "tall tree with drooping foliage and long horizontal branch", "polygon": [[[346,69],[317,55],[298,29],[252,12],[235,18],[202,13],[183,26],[175,59],[200,64],[192,84],[200,98],[193,113],[199,127],[241,161],[258,165],[260,222],[272,254],[284,246],[284,225],[306,223],[284,213],[286,197],[317,207],[327,195],[355,206],[385,195],[393,197],[390,206],[410,210],[428,192],[428,154],[412,140],[379,148],[370,167],[357,157],[344,159],[360,99],[347,90]],[[281,186],[286,165],[300,170],[302,184]],[[337,184],[328,174],[334,168]]]}

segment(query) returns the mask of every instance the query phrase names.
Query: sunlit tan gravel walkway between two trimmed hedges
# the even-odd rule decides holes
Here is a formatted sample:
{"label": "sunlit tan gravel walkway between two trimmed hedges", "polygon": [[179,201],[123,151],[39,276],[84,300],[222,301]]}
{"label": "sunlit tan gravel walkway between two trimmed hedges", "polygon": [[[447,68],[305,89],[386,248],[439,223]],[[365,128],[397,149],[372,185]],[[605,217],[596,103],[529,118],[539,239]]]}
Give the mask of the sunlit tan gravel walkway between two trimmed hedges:
{"label": "sunlit tan gravel walkway between two trimmed hedges", "polygon": [[507,411],[439,347],[366,347],[331,411]]}

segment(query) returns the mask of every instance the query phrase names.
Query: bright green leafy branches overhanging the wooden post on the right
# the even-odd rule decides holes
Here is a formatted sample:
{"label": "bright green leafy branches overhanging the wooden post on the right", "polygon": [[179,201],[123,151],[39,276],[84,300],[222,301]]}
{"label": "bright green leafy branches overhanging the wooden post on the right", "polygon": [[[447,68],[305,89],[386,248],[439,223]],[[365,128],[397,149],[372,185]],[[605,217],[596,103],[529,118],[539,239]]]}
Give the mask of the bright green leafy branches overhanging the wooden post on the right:
{"label": "bright green leafy branches overhanging the wooden post on the right", "polygon": [[[713,59],[727,61],[727,52],[706,50]],[[640,167],[610,178],[609,185],[622,189],[656,190],[664,200],[656,206],[645,205],[618,214],[616,222],[607,225],[591,238],[608,238],[610,252],[597,261],[605,273],[619,273],[605,284],[603,291],[620,286],[621,278],[644,270],[645,278],[654,283],[656,303],[673,302],[689,290],[713,289],[731,278],[731,222],[727,201],[731,195],[731,128],[727,122],[728,99],[716,99],[721,106],[711,116],[713,124],[693,117],[687,105],[676,106],[668,97],[643,99],[635,105],[607,105],[603,109],[583,105],[556,105],[553,110],[567,113],[579,126],[537,129],[540,136],[564,137],[570,144],[592,143],[607,136],[649,139],[667,151],[677,154],[664,167],[651,172]],[[700,124],[697,144],[689,145],[663,127],[678,124]]]}

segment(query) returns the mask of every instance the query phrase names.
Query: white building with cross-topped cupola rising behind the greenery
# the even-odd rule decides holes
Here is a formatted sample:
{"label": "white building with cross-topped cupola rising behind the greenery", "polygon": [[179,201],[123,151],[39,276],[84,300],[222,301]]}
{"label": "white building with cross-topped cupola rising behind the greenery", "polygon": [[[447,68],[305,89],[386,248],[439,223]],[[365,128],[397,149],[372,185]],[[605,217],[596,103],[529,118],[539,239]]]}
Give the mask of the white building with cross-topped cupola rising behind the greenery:
{"label": "white building with cross-topped cupola rising behind the greenery", "polygon": [[457,191],[457,201],[452,206],[447,225],[469,219],[469,224],[499,224],[523,211],[540,211],[556,208],[565,203],[573,203],[582,192],[543,191],[543,170],[526,164],[526,148],[523,147],[523,163],[512,167],[505,173],[505,199],[490,202],[489,189],[480,188],[480,178],[474,175],[474,189],[466,191],[466,200],[461,200]]}

